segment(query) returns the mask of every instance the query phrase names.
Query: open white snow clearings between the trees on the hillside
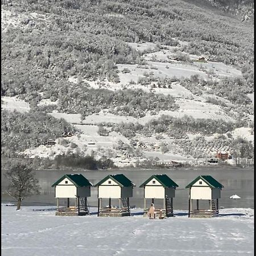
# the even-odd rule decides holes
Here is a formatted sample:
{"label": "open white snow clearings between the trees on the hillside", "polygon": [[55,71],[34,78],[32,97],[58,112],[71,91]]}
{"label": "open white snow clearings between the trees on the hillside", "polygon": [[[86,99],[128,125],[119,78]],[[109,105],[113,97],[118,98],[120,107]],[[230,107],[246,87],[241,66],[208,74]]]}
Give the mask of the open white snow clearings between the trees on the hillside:
{"label": "open white snow clearings between the trees on the hillside", "polygon": [[[180,42],[183,45],[184,42]],[[180,84],[180,82],[172,82],[171,88],[159,88],[151,85],[142,85],[138,82],[140,77],[143,77],[147,73],[154,73],[155,77],[166,77],[171,79],[174,75],[177,77],[176,70],[179,69],[181,77],[189,77],[193,75],[191,71],[197,73],[201,77],[207,77],[207,70],[209,68],[213,69],[212,75],[208,77],[208,79],[218,79],[218,77],[224,76],[241,76],[241,72],[237,69],[222,64],[222,63],[211,63],[210,61],[204,63],[177,63],[179,61],[171,61],[168,63],[164,63],[163,57],[169,56],[174,53],[175,47],[171,47],[168,49],[168,52],[163,52],[162,50],[156,49],[156,44],[153,43],[143,43],[143,44],[133,44],[134,48],[139,48],[140,50],[143,49],[149,50],[154,52],[147,53],[145,56],[147,58],[152,58],[154,56],[154,63],[150,64],[148,61],[148,68],[141,68],[137,65],[118,65],[118,69],[120,71],[119,77],[120,82],[114,83],[110,81],[88,81],[89,86],[93,88],[106,88],[109,90],[123,90],[125,88],[141,88],[145,92],[152,92],[156,94],[169,94],[176,99],[176,104],[179,106],[179,109],[171,111],[171,110],[160,110],[158,113],[150,113],[148,112],[144,117],[135,118],[125,115],[115,115],[109,113],[108,109],[101,110],[100,113],[92,114],[86,116],[82,119],[81,114],[67,114],[67,113],[58,113],[52,112],[49,113],[55,118],[64,118],[67,122],[74,125],[77,129],[80,130],[81,135],[79,137],[73,136],[65,138],[68,141],[67,144],[69,146],[61,145],[61,139],[56,139],[57,144],[55,146],[43,146],[40,145],[36,148],[28,148],[23,152],[24,155],[34,158],[35,156],[39,156],[40,158],[49,157],[54,158],[56,155],[62,154],[94,154],[96,158],[100,158],[101,156],[107,156],[114,160],[114,163],[119,166],[127,166],[130,164],[135,164],[138,160],[144,160],[148,158],[159,158],[163,160],[177,160],[181,162],[188,162],[191,163],[192,160],[195,160],[191,155],[185,154],[183,152],[183,148],[179,145],[174,144],[174,140],[166,137],[165,134],[162,134],[162,139],[159,139],[156,136],[152,137],[144,137],[142,135],[137,135],[134,139],[138,142],[137,144],[143,143],[143,146],[139,147],[131,145],[134,149],[137,148],[140,152],[138,156],[129,156],[125,152],[118,150],[118,143],[122,141],[123,143],[130,145],[131,140],[123,137],[123,135],[119,133],[112,132],[108,136],[101,136],[98,134],[98,125],[101,123],[112,123],[112,125],[116,123],[141,123],[145,125],[145,123],[149,122],[152,119],[159,118],[161,115],[171,115],[172,117],[181,118],[187,115],[188,117],[197,118],[204,118],[204,119],[214,119],[218,121],[218,119],[224,119],[226,121],[234,122],[237,116],[236,108],[232,108],[229,112],[226,112],[221,105],[216,105],[207,101],[209,97],[216,98],[219,102],[224,102],[227,106],[233,106],[231,102],[226,100],[226,98],[221,98],[218,96],[214,96],[213,94],[208,94],[205,92],[200,96],[193,94],[191,90],[184,88]],[[179,47],[178,47],[179,48]],[[189,57],[193,60],[198,60],[200,56],[189,55]],[[199,65],[204,65],[204,71],[199,71]],[[166,65],[170,65],[169,68],[166,68]],[[123,69],[129,69],[129,73],[122,73]],[[173,71],[172,71],[173,69]],[[164,70],[164,71],[163,71]],[[133,80],[137,82],[137,84],[131,84],[130,81]],[[77,83],[76,77],[69,77],[69,82]],[[28,111],[29,105],[21,100],[18,100],[16,97],[2,97],[2,108],[14,110],[16,109],[19,112],[24,112],[25,110]],[[39,106],[42,105],[55,105],[57,101],[51,102],[49,100],[42,100],[38,103]],[[253,115],[247,115],[249,119],[253,120]],[[188,140],[193,141],[194,137],[191,137],[189,134]],[[241,129],[236,129],[232,131],[233,138],[236,139],[238,137],[242,137],[247,139],[248,141],[253,142],[254,136],[252,134],[252,129],[248,127],[243,127]],[[213,140],[214,136],[217,137],[217,134],[213,134],[212,138],[208,139]],[[75,143],[76,147],[73,148],[72,143]],[[161,143],[168,143],[172,145],[171,148],[167,152],[161,152],[160,144]],[[200,150],[208,152],[208,158],[214,157],[216,151],[218,150],[228,150],[228,147],[220,147],[220,148],[212,148],[209,149],[206,145],[201,145]],[[202,159],[201,159],[202,160]],[[204,159],[205,160],[205,159]],[[233,163],[233,162],[230,162]]]}

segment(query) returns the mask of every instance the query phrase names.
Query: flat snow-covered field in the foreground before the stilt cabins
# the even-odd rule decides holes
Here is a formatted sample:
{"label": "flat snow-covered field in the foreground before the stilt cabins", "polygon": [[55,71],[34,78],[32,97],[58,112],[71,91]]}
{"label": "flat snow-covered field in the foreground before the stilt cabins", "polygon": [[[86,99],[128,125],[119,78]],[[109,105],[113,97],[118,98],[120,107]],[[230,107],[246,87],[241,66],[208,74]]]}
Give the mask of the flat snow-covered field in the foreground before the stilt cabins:
{"label": "flat snow-covered field in the foreground before the stilt cabins", "polygon": [[2,205],[2,255],[253,255],[254,210],[220,209],[220,217],[188,218],[175,210],[164,220],[55,216],[51,207]]}

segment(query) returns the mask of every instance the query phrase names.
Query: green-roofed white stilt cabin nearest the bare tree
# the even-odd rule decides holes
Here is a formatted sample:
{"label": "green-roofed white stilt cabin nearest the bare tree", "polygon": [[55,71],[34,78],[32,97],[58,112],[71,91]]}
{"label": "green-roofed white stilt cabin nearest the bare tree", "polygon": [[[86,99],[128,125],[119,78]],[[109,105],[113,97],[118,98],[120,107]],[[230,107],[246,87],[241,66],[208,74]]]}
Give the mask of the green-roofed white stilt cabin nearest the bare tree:
{"label": "green-roofed white stilt cabin nearest the bare tree", "polygon": [[[87,197],[90,196],[90,183],[81,174],[65,174],[52,184],[57,199],[57,216],[82,216],[89,214]],[[65,207],[60,207],[60,199]],[[71,204],[73,203],[73,206]]]}

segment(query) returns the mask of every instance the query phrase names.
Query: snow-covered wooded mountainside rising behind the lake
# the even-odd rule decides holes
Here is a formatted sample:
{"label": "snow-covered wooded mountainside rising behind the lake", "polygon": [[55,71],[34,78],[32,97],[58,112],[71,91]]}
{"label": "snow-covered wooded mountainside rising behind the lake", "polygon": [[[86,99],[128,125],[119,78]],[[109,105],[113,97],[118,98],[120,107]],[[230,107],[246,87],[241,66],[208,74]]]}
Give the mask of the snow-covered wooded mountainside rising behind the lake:
{"label": "snow-covered wooded mountainside rising behind the lake", "polygon": [[[143,7],[136,1],[32,2],[3,1],[1,6],[1,108],[47,112],[79,132],[63,138],[61,128],[52,146],[40,144],[52,134],[40,139],[33,134],[20,143],[20,154],[89,154],[125,166],[154,158],[202,162],[217,150],[229,151],[234,139],[254,142],[252,28],[211,6],[221,1],[174,0],[159,6],[149,1]],[[88,20],[81,19],[85,16]],[[137,92],[147,100],[141,102]],[[154,130],[163,115],[206,124],[198,133]],[[213,121],[240,128],[219,129],[220,134],[207,127]],[[147,130],[130,136],[134,124]],[[19,129],[3,126],[2,152],[8,157],[14,153],[8,147],[13,137],[26,136]]]}

